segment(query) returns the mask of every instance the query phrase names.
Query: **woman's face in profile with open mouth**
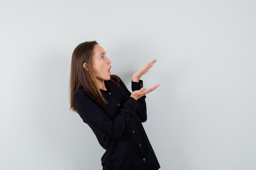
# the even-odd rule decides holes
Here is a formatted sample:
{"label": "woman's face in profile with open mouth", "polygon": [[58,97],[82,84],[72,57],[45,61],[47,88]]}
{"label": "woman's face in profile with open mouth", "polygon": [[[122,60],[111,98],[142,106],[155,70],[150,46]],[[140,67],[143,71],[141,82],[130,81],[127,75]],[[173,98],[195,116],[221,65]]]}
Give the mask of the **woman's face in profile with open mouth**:
{"label": "woman's face in profile with open mouth", "polygon": [[98,82],[110,80],[111,61],[106,56],[106,51],[101,46],[95,45],[93,52],[92,66]]}

